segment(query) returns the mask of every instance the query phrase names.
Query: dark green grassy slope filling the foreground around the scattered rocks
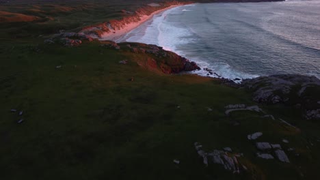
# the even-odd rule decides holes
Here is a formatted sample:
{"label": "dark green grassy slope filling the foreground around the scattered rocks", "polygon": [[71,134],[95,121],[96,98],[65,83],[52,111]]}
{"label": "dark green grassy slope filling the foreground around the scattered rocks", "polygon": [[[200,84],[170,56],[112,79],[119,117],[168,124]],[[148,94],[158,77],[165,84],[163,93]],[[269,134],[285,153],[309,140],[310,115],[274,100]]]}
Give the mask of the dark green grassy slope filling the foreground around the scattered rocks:
{"label": "dark green grassy slope filling the foreground around the scattered rocks", "polygon": [[[137,64],[151,55],[124,47],[42,43],[41,34],[118,17],[109,13],[132,7],[114,5],[95,18],[107,5],[56,12],[54,19],[64,19],[59,23],[0,24],[1,179],[319,179],[320,125],[291,107],[258,104],[276,120],[251,111],[226,116],[228,104],[256,105],[251,94],[211,78],[151,72]],[[94,16],[85,18],[90,11]],[[124,59],[128,63],[120,64]],[[254,132],[263,132],[259,142],[294,148],[287,153],[291,163],[256,157],[256,141],[247,138]],[[206,151],[230,147],[243,153],[248,171],[206,167],[194,142]]]}

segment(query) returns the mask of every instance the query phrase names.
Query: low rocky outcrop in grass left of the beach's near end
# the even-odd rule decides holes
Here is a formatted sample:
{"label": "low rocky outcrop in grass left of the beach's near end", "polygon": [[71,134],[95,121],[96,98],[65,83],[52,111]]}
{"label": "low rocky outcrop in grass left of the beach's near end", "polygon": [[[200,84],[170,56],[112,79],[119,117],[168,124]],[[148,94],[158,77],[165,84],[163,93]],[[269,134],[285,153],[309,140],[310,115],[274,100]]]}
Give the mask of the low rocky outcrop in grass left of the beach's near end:
{"label": "low rocky outcrop in grass left of the beach's near end", "polygon": [[90,35],[83,35],[79,33],[59,33],[52,35],[51,38],[44,41],[46,44],[62,44],[63,46],[79,46],[83,41],[92,42],[92,37]]}

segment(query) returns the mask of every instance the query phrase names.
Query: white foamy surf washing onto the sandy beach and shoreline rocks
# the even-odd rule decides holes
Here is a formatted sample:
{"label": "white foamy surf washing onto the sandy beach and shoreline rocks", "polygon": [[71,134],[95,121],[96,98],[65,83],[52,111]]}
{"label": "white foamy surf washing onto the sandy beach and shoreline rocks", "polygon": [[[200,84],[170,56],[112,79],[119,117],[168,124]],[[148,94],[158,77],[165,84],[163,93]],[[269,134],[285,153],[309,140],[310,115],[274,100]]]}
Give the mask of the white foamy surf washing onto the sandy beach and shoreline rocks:
{"label": "white foamy surf washing onto the sandy beach and shoreline rocks", "polygon": [[[194,7],[195,5],[185,5],[189,7]],[[196,61],[202,70],[191,72],[192,74],[199,74],[200,76],[211,76],[211,77],[223,77],[223,78],[254,78],[256,75],[245,74],[237,70],[233,70],[227,63],[213,63],[203,61],[201,57],[189,58],[187,53],[183,50],[179,50],[178,47],[184,44],[189,44],[196,40],[194,37],[194,31],[189,27],[185,27],[182,23],[170,22],[167,16],[172,14],[179,14],[183,11],[191,11],[183,9],[183,7],[175,7],[171,10],[167,10],[162,14],[154,16],[152,20],[144,23],[137,29],[134,29],[120,41],[126,42],[141,42],[146,44],[156,44],[157,46],[162,46],[165,50],[170,50],[176,52],[178,55],[186,57],[191,61]],[[215,74],[209,74],[204,68],[213,70]]]}

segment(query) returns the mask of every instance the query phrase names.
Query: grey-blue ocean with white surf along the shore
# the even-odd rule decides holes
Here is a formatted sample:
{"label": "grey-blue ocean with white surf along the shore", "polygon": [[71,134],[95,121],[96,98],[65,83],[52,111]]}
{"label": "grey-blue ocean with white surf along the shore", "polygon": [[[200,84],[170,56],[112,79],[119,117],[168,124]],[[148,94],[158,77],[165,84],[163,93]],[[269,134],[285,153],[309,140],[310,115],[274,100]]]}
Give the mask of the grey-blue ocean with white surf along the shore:
{"label": "grey-blue ocean with white surf along the shore", "polygon": [[224,78],[320,78],[320,1],[184,5],[155,15],[118,42],[163,46]]}

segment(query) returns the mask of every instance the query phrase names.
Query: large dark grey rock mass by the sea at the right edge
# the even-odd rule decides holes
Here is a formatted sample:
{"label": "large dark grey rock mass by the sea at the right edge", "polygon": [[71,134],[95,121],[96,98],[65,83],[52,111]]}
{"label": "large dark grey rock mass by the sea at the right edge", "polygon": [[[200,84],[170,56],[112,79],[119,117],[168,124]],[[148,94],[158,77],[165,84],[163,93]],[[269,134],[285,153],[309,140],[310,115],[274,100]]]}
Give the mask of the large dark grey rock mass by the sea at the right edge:
{"label": "large dark grey rock mass by the sea at the right edge", "polygon": [[320,119],[320,80],[315,76],[281,74],[243,80],[256,102],[284,103],[305,112],[306,119]]}

